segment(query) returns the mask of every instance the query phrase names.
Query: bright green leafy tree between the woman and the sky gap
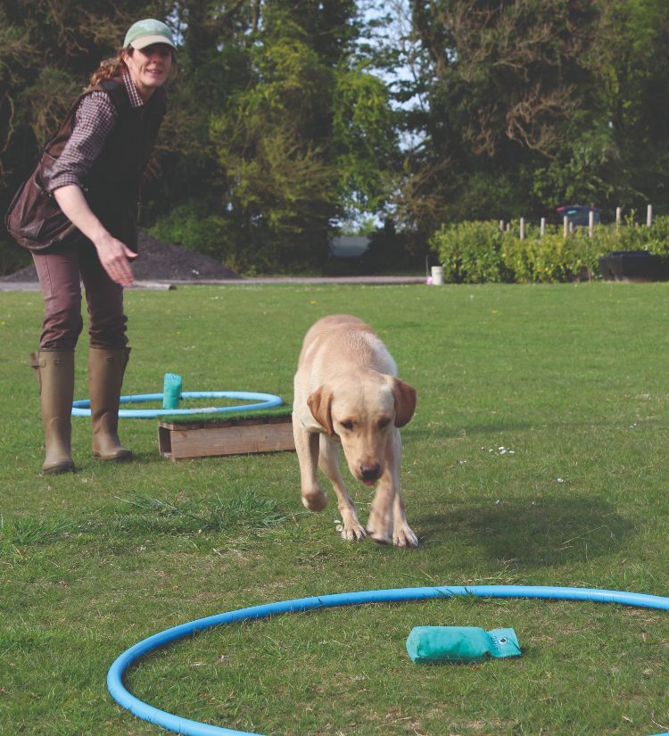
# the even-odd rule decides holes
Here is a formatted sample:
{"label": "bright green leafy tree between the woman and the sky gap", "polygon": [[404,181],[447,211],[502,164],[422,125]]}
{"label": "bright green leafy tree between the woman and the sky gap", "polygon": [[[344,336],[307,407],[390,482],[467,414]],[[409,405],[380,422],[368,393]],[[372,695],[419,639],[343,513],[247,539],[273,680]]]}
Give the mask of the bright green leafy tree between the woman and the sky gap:
{"label": "bright green leafy tree between the woman and the sky gap", "polygon": [[219,37],[208,76],[234,74],[221,74],[199,120],[209,186],[195,186],[197,201],[160,219],[156,234],[184,242],[184,218],[196,219],[187,240],[233,268],[313,269],[338,220],[382,206],[394,120],[384,85],[356,59],[358,33],[351,0],[268,0],[252,6],[244,32]]}

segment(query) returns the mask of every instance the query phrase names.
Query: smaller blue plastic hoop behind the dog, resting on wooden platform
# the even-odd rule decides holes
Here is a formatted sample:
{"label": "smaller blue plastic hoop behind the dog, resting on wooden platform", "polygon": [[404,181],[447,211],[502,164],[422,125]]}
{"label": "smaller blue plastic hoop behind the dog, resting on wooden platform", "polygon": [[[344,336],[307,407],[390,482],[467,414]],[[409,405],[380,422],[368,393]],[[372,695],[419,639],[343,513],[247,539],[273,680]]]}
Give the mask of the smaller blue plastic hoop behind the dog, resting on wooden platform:
{"label": "smaller blue plastic hoop behind the dog, resting on wooden platform", "polygon": [[[135,404],[143,401],[162,401],[162,393],[136,393],[131,396],[121,396],[121,404]],[[197,407],[196,409],[119,409],[119,417],[127,419],[151,419],[155,417],[173,417],[178,414],[214,414],[240,409],[271,409],[283,406],[283,401],[273,393],[252,393],[250,391],[184,391],[182,399],[241,399],[242,401],[256,401],[252,404],[239,406]],[[89,399],[72,401],[72,417],[90,417],[91,402]]]}

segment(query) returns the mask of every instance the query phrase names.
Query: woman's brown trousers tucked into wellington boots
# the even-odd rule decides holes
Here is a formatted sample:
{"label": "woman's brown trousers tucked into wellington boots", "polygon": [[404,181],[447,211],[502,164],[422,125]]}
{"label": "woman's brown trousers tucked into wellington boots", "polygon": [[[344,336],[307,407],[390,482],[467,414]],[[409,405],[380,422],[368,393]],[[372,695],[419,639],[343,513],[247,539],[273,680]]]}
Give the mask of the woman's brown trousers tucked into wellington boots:
{"label": "woman's brown trousers tucked into wellington boots", "polygon": [[73,236],[52,252],[33,252],[32,257],[45,303],[40,350],[74,350],[84,327],[80,281],[86,289],[90,344],[111,350],[126,346],[123,287],[107,276],[87,238]]}

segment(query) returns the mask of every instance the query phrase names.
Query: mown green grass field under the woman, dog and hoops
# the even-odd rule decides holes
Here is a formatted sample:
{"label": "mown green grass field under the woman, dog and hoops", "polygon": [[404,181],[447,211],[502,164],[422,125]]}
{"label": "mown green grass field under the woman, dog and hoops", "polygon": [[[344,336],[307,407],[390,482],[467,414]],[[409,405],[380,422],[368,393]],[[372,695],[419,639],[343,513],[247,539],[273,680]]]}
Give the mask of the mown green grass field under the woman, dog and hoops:
{"label": "mown green grass field under the woman, dog and hoops", "polygon": [[[417,387],[402,484],[417,550],[346,543],[332,500],[301,506],[293,453],[173,463],[155,420],[121,420],[136,461],[39,473],[27,357],[41,297],[0,294],[0,734],[158,734],[105,674],[169,626],[314,594],[545,584],[669,595],[669,285],[235,286],[127,294],[124,393],[292,400],[317,318],[367,319]],[[87,397],[86,347],[76,398]],[[349,489],[361,517],[370,489]],[[417,624],[512,626],[523,657],[425,667]],[[277,736],[593,736],[669,731],[669,615],[442,600],[277,616],[146,657],[128,687],[194,720]]]}

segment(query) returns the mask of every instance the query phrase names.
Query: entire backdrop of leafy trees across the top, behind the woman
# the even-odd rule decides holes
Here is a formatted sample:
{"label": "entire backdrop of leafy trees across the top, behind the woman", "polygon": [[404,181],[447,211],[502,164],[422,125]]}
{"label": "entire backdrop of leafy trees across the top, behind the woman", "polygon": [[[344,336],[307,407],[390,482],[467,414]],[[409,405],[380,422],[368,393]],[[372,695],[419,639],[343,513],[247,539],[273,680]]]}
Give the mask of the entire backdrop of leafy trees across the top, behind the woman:
{"label": "entire backdrop of leafy trees across the top, behind the woman", "polygon": [[0,0],[4,207],[140,17],[180,46],[141,224],[233,268],[318,269],[370,217],[417,252],[463,219],[669,211],[665,0]]}

